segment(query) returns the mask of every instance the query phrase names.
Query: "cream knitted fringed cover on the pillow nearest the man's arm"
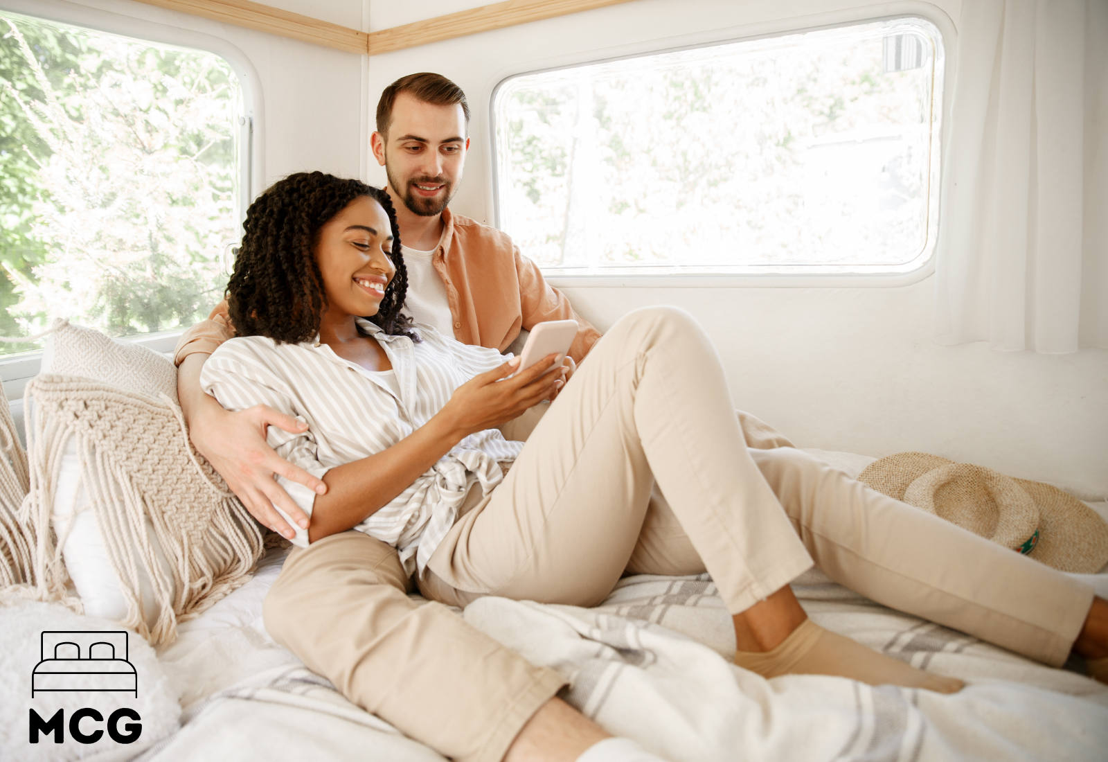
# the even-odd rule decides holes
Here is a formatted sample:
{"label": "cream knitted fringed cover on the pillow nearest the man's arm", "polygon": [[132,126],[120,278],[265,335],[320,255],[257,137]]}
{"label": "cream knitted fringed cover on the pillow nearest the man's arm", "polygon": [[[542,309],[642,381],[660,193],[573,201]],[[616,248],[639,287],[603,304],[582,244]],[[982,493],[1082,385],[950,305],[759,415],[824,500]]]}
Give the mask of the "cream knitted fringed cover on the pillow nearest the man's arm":
{"label": "cream knitted fringed cover on the pillow nearest the man's arm", "polygon": [[[175,638],[178,620],[199,614],[246,581],[261,555],[254,521],[223,481],[197,459],[173,400],[72,375],[40,374],[25,391],[30,492],[24,518],[35,528],[34,584],[44,599],[63,599],[65,537],[50,529],[62,455],[76,445],[81,482],[96,514],[112,566],[129,601],[121,622],[153,645]],[[155,543],[172,572],[157,563]],[[147,627],[140,574],[158,606]]]}

